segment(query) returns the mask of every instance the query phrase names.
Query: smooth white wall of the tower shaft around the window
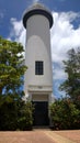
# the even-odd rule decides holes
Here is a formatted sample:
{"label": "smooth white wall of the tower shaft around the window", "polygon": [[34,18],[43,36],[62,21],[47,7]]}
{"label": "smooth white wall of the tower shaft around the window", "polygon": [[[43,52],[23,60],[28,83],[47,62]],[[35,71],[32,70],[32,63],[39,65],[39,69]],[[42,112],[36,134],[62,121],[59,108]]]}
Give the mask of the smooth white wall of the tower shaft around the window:
{"label": "smooth white wall of the tower shaft around the window", "polygon": [[[35,61],[44,61],[44,75],[35,75]],[[25,64],[28,67],[25,94],[28,86],[53,87],[49,21],[44,15],[36,14],[27,20]]]}

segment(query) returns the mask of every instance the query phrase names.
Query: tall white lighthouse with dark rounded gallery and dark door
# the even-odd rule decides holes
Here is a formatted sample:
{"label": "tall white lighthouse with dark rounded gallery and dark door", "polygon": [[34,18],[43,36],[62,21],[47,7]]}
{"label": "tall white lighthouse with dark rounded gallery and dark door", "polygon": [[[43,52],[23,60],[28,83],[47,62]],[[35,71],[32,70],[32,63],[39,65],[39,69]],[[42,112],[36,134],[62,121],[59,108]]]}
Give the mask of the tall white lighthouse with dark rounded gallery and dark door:
{"label": "tall white lighthouse with dark rounded gallery and dark door", "polygon": [[34,125],[48,125],[48,105],[53,94],[50,28],[53,15],[43,4],[35,3],[23,14],[26,29],[24,77],[25,96],[34,103]]}

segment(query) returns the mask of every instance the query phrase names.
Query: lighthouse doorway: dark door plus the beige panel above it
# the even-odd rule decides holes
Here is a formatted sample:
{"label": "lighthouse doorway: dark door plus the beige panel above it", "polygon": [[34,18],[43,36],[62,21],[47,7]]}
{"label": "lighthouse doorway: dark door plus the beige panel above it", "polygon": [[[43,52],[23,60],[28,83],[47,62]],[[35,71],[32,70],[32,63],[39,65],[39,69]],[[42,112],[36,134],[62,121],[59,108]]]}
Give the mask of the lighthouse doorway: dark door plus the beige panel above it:
{"label": "lighthouse doorway: dark door plus the beige panel above it", "polygon": [[32,94],[32,103],[34,106],[33,125],[48,127],[49,125],[49,95],[48,94]]}

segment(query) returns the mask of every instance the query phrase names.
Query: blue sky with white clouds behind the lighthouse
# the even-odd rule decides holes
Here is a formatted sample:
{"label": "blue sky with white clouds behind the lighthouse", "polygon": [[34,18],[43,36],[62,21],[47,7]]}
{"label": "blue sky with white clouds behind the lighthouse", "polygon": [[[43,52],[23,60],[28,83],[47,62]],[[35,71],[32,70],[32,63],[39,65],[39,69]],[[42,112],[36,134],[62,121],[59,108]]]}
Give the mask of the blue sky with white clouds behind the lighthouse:
{"label": "blue sky with white clouds behind the lighthouse", "polygon": [[80,0],[0,0],[0,35],[25,45],[22,14],[37,1],[47,7],[54,18],[50,30],[53,94],[59,98],[65,92],[58,87],[67,78],[62,61],[67,59],[68,50],[80,46]]}

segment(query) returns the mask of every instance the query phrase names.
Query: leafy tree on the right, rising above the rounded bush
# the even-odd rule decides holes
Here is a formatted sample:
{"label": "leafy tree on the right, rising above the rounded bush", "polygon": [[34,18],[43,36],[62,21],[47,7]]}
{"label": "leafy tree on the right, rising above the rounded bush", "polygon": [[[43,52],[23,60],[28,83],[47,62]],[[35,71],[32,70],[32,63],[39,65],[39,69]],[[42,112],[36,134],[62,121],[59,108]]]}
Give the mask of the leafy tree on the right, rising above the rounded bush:
{"label": "leafy tree on the right, rising above the rounded bush", "polygon": [[61,90],[71,98],[73,102],[80,105],[80,47],[68,52],[68,59],[64,61],[65,73],[68,78],[60,86]]}

